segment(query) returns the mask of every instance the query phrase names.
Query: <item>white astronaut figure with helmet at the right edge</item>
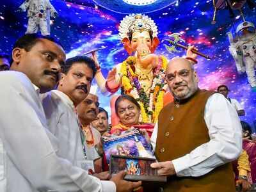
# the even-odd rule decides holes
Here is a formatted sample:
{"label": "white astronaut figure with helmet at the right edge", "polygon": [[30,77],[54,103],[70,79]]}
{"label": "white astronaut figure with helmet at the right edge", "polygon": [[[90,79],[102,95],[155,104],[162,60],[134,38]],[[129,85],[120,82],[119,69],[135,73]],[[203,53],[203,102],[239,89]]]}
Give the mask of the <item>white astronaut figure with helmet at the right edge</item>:
{"label": "white astronaut figure with helmet at the right edge", "polygon": [[239,74],[246,72],[248,81],[256,92],[256,31],[252,22],[244,21],[237,26],[236,40],[232,33],[228,33],[230,42],[229,52],[236,61],[236,68]]}

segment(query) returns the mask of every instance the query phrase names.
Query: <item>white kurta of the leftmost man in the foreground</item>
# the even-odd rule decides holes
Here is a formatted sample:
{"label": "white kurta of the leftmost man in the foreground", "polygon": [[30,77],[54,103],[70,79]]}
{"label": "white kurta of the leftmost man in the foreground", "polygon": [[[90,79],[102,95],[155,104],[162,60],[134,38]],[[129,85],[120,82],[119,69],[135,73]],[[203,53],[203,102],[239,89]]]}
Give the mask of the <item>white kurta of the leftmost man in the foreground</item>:
{"label": "white kurta of the leftmost man in the foreground", "polygon": [[0,73],[0,191],[102,191],[99,179],[56,155],[38,90],[20,72]]}

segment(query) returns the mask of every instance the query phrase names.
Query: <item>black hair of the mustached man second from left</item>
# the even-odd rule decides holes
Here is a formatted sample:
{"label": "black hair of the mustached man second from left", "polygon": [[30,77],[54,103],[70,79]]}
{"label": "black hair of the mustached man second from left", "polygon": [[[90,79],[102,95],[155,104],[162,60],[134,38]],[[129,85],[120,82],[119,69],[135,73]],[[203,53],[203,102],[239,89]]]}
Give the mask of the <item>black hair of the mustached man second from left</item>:
{"label": "black hair of the mustached man second from left", "polygon": [[67,74],[74,63],[85,63],[89,68],[92,69],[93,77],[97,72],[95,62],[87,56],[75,56],[66,60],[65,65],[62,68],[63,74]]}

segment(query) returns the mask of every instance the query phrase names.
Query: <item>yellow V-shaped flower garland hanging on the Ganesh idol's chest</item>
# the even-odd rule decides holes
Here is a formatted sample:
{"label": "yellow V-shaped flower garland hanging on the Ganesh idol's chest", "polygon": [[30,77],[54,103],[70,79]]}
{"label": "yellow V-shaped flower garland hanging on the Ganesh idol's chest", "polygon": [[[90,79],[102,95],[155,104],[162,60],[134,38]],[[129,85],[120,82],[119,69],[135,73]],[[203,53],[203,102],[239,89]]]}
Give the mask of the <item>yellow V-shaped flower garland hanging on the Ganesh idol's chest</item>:
{"label": "yellow V-shaped flower garland hanging on the Ganesh idol's chest", "polygon": [[163,108],[163,96],[167,89],[164,81],[167,62],[164,56],[159,57],[159,63],[153,70],[152,86],[148,94],[141,88],[138,75],[135,74],[136,58],[129,56],[121,65],[122,86],[125,93],[134,97],[140,104],[141,119],[144,123],[156,123]]}

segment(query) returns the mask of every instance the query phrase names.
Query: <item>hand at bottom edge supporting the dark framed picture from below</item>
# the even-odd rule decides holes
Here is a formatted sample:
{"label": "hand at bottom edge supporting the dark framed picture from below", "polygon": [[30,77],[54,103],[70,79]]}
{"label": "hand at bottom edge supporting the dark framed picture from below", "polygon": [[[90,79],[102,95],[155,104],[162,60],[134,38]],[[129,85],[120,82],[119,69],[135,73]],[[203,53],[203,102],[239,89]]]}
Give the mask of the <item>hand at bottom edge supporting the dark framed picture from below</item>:
{"label": "hand at bottom edge supporting the dark framed picture from below", "polygon": [[134,191],[134,189],[139,188],[141,186],[141,181],[130,182],[124,180],[124,176],[125,172],[122,171],[111,178],[111,180],[116,184],[116,192],[130,192]]}

